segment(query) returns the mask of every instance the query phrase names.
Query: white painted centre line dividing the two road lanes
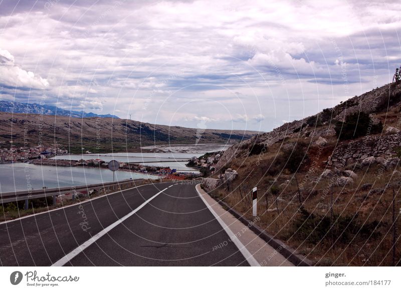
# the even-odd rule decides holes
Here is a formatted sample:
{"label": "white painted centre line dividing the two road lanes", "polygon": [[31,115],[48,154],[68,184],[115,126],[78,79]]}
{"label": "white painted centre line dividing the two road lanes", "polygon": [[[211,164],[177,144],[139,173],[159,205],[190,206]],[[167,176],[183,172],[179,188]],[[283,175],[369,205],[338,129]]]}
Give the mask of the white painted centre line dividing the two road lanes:
{"label": "white painted centre line dividing the two road lanes", "polygon": [[[167,187],[168,188],[168,187]],[[90,246],[92,243],[94,243],[96,240],[98,240],[100,237],[102,237],[103,235],[105,235],[107,232],[109,232],[111,229],[113,229],[114,227],[116,227],[118,224],[120,224],[121,222],[123,222],[125,219],[129,218],[130,216],[132,216],[133,214],[135,214],[139,209],[141,209],[143,206],[145,206],[147,203],[149,203],[152,199],[154,199],[158,194],[160,194],[161,192],[165,191],[167,188],[164,188],[163,190],[161,190],[160,192],[154,194],[152,197],[150,197],[149,199],[147,199],[145,202],[143,202],[142,204],[140,204],[138,207],[136,207],[134,210],[132,210],[131,212],[129,212],[128,214],[126,214],[124,217],[118,219],[117,221],[115,221],[114,223],[110,224],[109,226],[107,226],[106,228],[104,228],[103,230],[101,230],[99,233],[95,234],[94,236],[92,236],[91,238],[89,238],[87,241],[85,241],[84,243],[82,243],[80,246],[78,246],[77,248],[75,248],[74,250],[72,250],[71,252],[69,252],[68,254],[66,254],[65,256],[63,256],[62,258],[60,258],[58,261],[56,261],[54,264],[52,264],[52,266],[63,266],[65,265],[67,262],[69,262],[72,258],[74,258],[76,255],[78,255],[80,252],[82,252],[85,248],[87,248],[88,246]]]}

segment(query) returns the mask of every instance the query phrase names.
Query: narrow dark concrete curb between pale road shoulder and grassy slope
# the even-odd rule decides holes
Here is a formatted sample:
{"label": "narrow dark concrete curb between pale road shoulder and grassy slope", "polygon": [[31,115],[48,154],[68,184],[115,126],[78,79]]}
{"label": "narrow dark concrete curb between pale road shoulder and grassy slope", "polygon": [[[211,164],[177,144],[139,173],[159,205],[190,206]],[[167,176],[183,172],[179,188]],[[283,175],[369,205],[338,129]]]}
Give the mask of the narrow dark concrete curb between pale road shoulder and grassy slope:
{"label": "narrow dark concrete curb between pale road shoulder and grassy slope", "polygon": [[279,239],[273,238],[270,234],[264,231],[259,226],[255,225],[252,221],[249,221],[247,218],[244,217],[240,212],[236,211],[235,209],[231,208],[226,202],[223,202],[221,199],[216,198],[215,196],[211,195],[207,192],[209,196],[215,199],[220,205],[222,205],[227,211],[233,214],[238,220],[242,223],[247,225],[249,229],[255,232],[260,238],[265,240],[268,244],[274,247],[278,252],[280,252],[285,258],[287,258],[290,262],[292,262],[295,266],[312,266],[313,262],[306,258],[304,255],[298,253],[295,249],[291,248],[284,242]]}

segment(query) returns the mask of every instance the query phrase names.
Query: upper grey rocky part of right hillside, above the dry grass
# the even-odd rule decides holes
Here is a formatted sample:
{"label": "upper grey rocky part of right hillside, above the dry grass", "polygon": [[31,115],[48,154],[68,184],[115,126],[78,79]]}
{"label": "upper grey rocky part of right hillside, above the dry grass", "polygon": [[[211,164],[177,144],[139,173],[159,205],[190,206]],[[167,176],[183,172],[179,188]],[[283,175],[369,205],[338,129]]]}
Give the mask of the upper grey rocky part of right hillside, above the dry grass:
{"label": "upper grey rocky part of right hillside, above the dry grass", "polygon": [[[250,148],[255,145],[268,150],[272,144],[281,144],[283,149],[294,147],[297,142],[306,142],[307,146],[313,146],[322,141],[326,143],[332,141],[335,142],[333,151],[324,159],[324,166],[327,162],[328,167],[354,164],[357,160],[361,162],[363,158],[369,156],[384,158],[385,155],[395,154],[396,147],[401,145],[399,144],[401,142],[400,96],[401,84],[386,84],[360,96],[354,96],[333,108],[324,109],[316,115],[285,123],[271,132],[256,135],[233,145],[226,150],[216,165],[216,170],[225,167],[232,159],[246,158]],[[371,114],[373,123],[381,121],[384,124],[383,131],[370,134],[366,128],[364,138],[337,141],[336,122],[344,121],[347,116],[355,112]],[[349,142],[351,144],[348,146]],[[347,147],[350,148],[347,149]],[[349,151],[352,154],[349,154]]]}

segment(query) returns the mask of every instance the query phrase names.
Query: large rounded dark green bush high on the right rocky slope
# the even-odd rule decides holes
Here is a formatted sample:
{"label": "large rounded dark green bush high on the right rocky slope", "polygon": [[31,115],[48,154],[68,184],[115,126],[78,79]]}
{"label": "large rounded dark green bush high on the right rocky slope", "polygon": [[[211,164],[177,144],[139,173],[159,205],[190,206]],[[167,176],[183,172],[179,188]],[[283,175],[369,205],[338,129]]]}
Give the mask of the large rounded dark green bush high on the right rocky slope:
{"label": "large rounded dark green bush high on the right rocky slope", "polygon": [[353,139],[366,133],[379,133],[383,129],[381,121],[373,124],[372,118],[365,112],[355,112],[345,118],[345,122],[335,124],[335,133],[340,140]]}

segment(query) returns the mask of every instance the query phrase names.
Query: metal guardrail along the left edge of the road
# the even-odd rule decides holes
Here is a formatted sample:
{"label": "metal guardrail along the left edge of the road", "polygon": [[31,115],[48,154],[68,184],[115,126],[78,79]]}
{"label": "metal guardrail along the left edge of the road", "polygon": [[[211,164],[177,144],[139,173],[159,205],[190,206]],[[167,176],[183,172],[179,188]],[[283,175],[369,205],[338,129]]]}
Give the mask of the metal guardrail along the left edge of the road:
{"label": "metal guardrail along the left edge of the road", "polygon": [[80,191],[104,190],[104,193],[116,190],[127,189],[133,186],[141,185],[145,179],[128,179],[116,182],[67,186],[60,188],[45,188],[31,191],[14,191],[0,193],[0,203],[9,203],[25,200],[25,209],[28,209],[30,199],[53,197],[53,205],[56,205],[56,197],[63,194],[76,193]]}

